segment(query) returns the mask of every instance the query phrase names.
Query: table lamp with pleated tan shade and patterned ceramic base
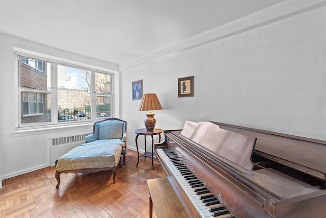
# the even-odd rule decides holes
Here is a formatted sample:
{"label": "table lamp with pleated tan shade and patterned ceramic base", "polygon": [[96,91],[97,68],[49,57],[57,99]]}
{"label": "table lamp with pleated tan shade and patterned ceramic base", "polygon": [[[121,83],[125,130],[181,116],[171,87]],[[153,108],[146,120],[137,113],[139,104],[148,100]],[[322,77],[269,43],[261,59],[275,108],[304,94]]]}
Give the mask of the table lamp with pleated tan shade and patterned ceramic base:
{"label": "table lamp with pleated tan shade and patterned ceramic base", "polygon": [[156,123],[156,119],[154,118],[155,114],[152,113],[152,110],[162,110],[162,109],[163,108],[159,103],[155,93],[144,94],[139,110],[140,111],[149,110],[149,112],[146,114],[147,118],[144,120],[147,131],[153,131]]}

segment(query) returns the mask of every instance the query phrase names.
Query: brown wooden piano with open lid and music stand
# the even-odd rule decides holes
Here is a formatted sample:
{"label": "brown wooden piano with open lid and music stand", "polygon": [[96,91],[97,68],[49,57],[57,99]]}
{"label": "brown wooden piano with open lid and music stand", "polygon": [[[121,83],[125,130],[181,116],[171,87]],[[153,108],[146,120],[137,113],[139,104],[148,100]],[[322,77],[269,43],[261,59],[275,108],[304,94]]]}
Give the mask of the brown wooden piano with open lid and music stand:
{"label": "brown wooden piano with open lid and music stand", "polygon": [[154,152],[188,217],[326,217],[326,141],[217,122],[164,135]]}

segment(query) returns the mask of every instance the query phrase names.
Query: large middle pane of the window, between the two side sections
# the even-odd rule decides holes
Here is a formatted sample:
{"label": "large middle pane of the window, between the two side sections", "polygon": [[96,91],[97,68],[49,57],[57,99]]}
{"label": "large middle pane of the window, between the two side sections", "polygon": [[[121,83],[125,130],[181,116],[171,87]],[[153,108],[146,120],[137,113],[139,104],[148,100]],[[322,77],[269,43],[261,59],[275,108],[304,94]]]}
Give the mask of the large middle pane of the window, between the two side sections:
{"label": "large middle pane of the window, between the two side sections", "polygon": [[[85,121],[91,106],[91,71],[58,65],[58,114],[67,121]],[[61,119],[62,120],[62,119]]]}

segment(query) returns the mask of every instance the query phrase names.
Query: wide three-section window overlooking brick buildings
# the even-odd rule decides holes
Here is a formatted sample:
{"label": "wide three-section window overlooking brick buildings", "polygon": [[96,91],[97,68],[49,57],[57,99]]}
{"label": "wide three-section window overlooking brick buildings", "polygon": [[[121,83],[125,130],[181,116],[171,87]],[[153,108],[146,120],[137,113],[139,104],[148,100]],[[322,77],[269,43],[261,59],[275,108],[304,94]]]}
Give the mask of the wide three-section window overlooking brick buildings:
{"label": "wide three-section window overlooking brick buildings", "polygon": [[113,116],[112,73],[42,57],[16,56],[18,127],[63,125]]}

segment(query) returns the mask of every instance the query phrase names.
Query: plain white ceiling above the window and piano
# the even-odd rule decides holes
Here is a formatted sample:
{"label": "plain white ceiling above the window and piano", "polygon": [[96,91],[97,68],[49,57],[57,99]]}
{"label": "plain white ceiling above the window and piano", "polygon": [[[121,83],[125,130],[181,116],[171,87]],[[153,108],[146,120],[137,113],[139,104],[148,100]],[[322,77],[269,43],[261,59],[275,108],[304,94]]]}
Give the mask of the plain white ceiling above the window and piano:
{"label": "plain white ceiling above the window and piano", "polygon": [[0,32],[123,64],[284,1],[0,0]]}

